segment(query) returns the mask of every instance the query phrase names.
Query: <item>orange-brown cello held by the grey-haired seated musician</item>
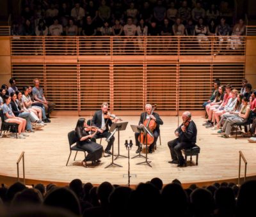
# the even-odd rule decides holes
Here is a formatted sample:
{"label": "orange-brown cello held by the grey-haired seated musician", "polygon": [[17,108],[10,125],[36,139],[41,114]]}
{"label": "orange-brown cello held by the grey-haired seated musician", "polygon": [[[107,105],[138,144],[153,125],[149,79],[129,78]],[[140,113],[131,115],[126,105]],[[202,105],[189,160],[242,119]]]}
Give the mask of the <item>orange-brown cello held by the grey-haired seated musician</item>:
{"label": "orange-brown cello held by the grey-haired seated musician", "polygon": [[[152,106],[152,111],[151,111],[150,115],[153,114],[154,110],[156,110],[156,104],[154,106]],[[151,118],[145,119],[145,121],[143,122],[143,125],[146,128],[148,128],[148,130],[150,130],[151,133],[153,133],[153,131],[156,129],[156,126],[157,126],[156,121]],[[146,135],[147,135],[147,137],[146,137]],[[154,138],[154,136],[151,137],[148,133],[146,135],[144,135],[144,133],[140,133],[138,140],[141,142],[141,144],[150,146],[154,142],[155,138]]]}

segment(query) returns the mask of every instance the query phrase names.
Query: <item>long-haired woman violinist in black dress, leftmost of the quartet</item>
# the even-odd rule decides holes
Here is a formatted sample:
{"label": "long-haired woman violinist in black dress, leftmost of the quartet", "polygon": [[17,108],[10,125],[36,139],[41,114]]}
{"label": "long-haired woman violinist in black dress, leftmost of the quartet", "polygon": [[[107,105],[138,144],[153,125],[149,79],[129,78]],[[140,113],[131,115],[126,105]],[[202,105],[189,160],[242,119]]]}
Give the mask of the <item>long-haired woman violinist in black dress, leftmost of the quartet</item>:
{"label": "long-haired woman violinist in black dress, leftmost of the quartet", "polygon": [[96,142],[92,142],[91,138],[95,136],[97,133],[97,129],[95,128],[95,132],[90,135],[88,129],[88,125],[85,122],[84,118],[79,118],[76,124],[76,136],[78,138],[77,140],[77,147],[84,149],[84,151],[87,151],[88,154],[86,158],[83,160],[83,165],[86,165],[86,161],[92,161],[93,164],[99,163],[100,158],[102,156],[103,147],[100,144],[97,144]]}

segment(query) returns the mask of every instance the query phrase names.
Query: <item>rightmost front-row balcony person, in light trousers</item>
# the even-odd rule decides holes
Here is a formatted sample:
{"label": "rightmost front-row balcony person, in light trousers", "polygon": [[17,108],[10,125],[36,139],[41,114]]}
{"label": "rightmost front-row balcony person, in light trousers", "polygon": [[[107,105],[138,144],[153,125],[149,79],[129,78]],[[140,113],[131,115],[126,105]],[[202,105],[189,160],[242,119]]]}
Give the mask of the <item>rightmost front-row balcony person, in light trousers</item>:
{"label": "rightmost front-row balcony person, in light trousers", "polygon": [[[230,37],[230,49],[239,49],[241,48],[243,36],[245,34],[245,24],[243,19],[239,19],[239,22],[233,27],[232,36]],[[238,36],[238,37],[237,37]]]}

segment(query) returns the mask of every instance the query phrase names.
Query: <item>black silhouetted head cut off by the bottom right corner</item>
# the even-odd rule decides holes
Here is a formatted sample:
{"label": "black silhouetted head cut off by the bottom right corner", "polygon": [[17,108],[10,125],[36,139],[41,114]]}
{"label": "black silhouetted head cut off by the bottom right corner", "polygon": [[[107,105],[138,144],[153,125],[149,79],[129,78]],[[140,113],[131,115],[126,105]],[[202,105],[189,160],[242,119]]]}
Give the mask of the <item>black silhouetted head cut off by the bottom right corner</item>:
{"label": "black silhouetted head cut off by the bottom right corner", "polygon": [[255,213],[256,180],[246,181],[240,186],[237,196],[237,216],[252,216]]}

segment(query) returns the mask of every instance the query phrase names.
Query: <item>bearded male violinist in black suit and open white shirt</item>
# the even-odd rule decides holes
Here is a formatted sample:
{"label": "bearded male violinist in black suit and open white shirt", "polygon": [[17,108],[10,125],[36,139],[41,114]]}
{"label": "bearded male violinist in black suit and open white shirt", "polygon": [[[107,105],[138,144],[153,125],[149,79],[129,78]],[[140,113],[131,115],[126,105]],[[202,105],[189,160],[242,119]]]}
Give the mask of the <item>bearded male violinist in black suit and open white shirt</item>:
{"label": "bearded male violinist in black suit and open white shirt", "polygon": [[[111,135],[111,133],[108,131],[109,126],[111,126],[113,122],[116,123],[118,119],[113,119],[112,122],[111,119],[109,119],[109,114],[110,113],[108,112],[108,103],[102,103],[101,110],[97,110],[92,118],[92,126],[97,126],[97,128],[99,128],[93,138],[108,138]],[[115,137],[110,138],[108,146],[105,149],[106,154],[112,154],[110,149],[114,140]]]}

